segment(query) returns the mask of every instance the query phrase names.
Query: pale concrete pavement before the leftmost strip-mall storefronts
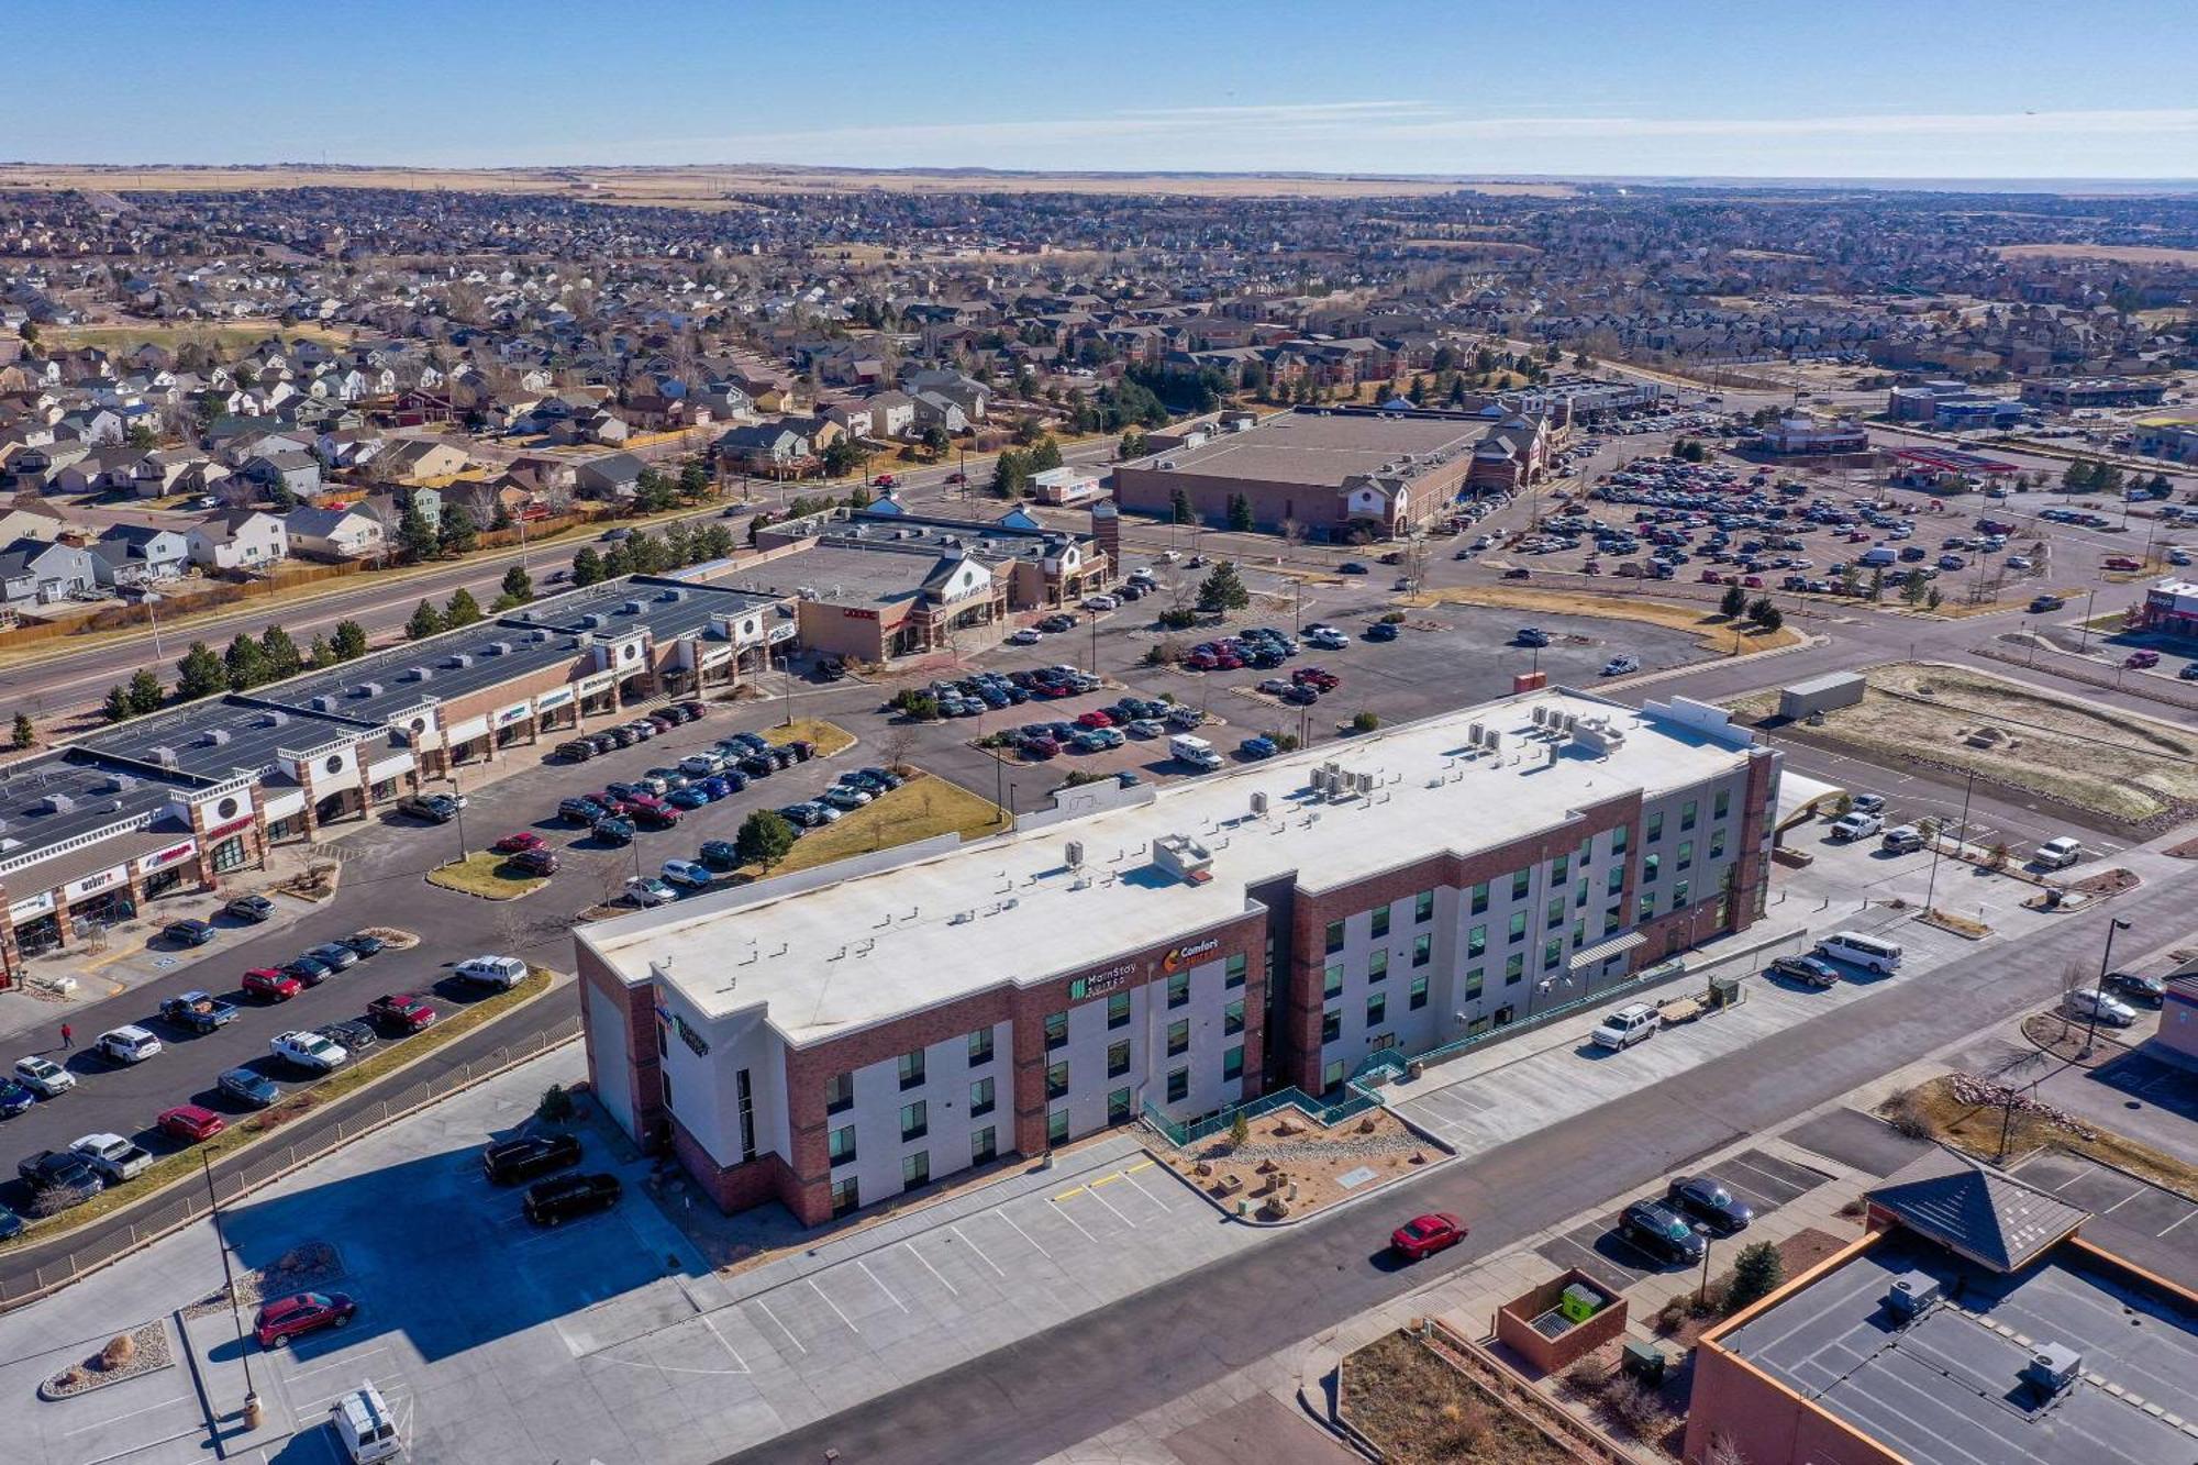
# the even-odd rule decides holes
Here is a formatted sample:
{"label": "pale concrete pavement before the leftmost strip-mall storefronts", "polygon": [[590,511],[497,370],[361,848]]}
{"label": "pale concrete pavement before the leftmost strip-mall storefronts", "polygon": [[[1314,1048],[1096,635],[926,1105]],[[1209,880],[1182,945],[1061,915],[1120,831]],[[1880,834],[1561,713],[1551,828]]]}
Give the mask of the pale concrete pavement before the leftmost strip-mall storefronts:
{"label": "pale concrete pavement before the leftmost strip-mall storefronts", "polygon": [[[24,963],[24,983],[0,992],[0,1040],[31,1036],[40,1049],[59,1047],[59,1027],[73,1021],[73,1012],[152,981],[160,981],[163,988],[174,985],[178,992],[191,985],[233,985],[235,961],[224,959],[229,948],[240,939],[286,930],[321,908],[310,900],[275,893],[275,886],[301,875],[310,860],[306,845],[279,845],[268,851],[266,869],[224,875],[218,891],[165,895],[130,919],[108,926],[97,941],[79,937],[66,948],[31,957]],[[275,902],[275,915],[259,924],[222,915],[222,906],[233,897],[255,893]],[[213,922],[220,935],[204,946],[178,946],[160,935],[163,926],[187,917]],[[213,961],[220,977],[193,977],[204,961]],[[64,979],[75,981],[73,992],[40,985]],[[95,1036],[77,1032],[77,1045]]]}

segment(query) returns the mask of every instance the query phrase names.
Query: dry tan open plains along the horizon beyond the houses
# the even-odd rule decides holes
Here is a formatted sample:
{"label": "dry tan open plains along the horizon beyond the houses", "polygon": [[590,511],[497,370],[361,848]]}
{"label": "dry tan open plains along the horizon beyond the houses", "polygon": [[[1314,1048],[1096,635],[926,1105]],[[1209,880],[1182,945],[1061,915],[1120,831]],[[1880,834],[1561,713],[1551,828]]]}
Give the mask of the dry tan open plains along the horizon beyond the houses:
{"label": "dry tan open plains along the horizon beyond the houses", "polygon": [[1020,174],[989,169],[774,167],[99,167],[13,163],[0,189],[242,191],[242,189],[466,189],[556,194],[613,205],[734,207],[728,194],[1187,194],[1198,198],[1385,198],[1497,194],[1572,198],[1569,183],[1506,183],[1343,174]]}

